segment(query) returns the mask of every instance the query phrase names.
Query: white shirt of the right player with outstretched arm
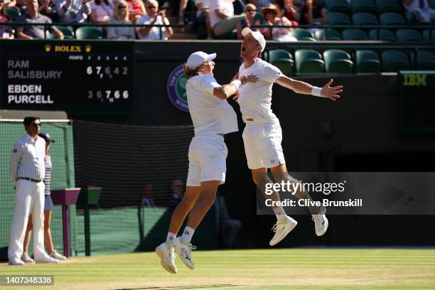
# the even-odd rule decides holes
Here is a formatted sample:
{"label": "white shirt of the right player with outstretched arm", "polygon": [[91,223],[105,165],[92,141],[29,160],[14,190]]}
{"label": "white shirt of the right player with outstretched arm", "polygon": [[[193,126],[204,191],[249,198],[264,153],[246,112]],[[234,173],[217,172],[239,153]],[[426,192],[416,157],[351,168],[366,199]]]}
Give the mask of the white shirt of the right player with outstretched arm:
{"label": "white shirt of the right player with outstretched arm", "polygon": [[[274,81],[283,76],[276,66],[257,59],[249,68],[242,63],[239,68],[239,77],[255,75],[257,82],[248,82],[239,88],[240,111],[246,124],[267,124],[277,120],[272,112],[272,85]],[[247,119],[254,119],[249,121]]]}

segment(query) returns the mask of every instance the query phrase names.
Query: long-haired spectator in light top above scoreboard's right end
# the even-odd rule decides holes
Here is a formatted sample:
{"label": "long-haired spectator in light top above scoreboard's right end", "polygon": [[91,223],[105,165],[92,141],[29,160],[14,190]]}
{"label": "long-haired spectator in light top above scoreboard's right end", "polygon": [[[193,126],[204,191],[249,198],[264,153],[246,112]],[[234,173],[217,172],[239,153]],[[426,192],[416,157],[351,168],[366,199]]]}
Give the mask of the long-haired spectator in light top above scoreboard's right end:
{"label": "long-haired spectator in light top above scoreboard's right end", "polygon": [[[127,1],[119,0],[116,2],[113,17],[110,18],[111,24],[131,24],[129,21],[129,9]],[[107,28],[107,38],[109,39],[134,39],[134,29],[132,26],[109,26]]]}

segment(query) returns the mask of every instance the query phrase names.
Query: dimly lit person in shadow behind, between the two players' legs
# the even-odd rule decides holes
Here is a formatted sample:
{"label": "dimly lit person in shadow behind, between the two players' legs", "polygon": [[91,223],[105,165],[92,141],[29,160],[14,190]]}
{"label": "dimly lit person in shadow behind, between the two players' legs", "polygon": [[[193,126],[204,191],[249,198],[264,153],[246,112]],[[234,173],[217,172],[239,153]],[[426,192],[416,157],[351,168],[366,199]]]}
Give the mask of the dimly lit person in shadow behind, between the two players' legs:
{"label": "dimly lit person in shadow behind, between the two players' legs", "polygon": [[242,222],[235,218],[230,218],[227,203],[225,203],[225,198],[222,195],[216,195],[215,208],[218,229],[220,229],[220,233],[223,235],[223,246],[232,247],[240,231],[240,227],[242,227]]}

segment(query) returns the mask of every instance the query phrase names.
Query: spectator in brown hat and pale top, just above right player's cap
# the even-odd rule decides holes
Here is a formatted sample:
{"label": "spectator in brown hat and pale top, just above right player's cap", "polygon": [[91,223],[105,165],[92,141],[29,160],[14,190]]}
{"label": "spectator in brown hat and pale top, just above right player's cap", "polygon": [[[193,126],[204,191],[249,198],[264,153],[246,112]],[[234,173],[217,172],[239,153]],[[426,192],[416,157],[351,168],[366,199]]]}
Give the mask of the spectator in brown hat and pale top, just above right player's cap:
{"label": "spectator in brown hat and pale top, just above right player's cap", "polygon": [[[270,26],[291,26],[293,23],[286,18],[286,16],[280,16],[281,11],[274,4],[269,4],[262,8],[260,12],[266,24]],[[264,38],[274,41],[297,41],[296,38],[291,36],[293,28],[263,28],[262,33]]]}

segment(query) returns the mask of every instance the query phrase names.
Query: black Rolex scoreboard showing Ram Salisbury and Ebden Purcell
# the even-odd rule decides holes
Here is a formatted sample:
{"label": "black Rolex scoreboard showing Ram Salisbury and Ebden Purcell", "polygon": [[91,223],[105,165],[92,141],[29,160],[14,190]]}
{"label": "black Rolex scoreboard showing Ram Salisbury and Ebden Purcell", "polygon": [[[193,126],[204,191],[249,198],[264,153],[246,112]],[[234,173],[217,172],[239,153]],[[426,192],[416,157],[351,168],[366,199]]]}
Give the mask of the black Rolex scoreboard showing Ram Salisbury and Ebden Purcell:
{"label": "black Rolex scoreboard showing Ram Salisbury and Ebden Purcell", "polygon": [[1,109],[129,114],[134,105],[134,43],[4,41]]}

